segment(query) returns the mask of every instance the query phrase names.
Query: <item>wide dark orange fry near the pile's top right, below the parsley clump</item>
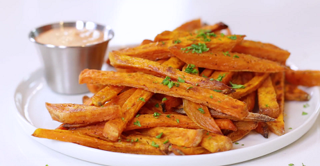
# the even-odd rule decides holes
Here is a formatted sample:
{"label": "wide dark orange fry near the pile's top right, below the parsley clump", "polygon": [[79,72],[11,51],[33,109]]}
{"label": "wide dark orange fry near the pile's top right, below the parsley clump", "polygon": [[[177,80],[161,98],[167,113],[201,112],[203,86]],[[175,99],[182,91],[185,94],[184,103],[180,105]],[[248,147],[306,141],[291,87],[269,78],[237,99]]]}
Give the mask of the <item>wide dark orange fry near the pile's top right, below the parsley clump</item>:
{"label": "wide dark orange fry near the pile's top right, below the parsley clump", "polygon": [[220,71],[252,71],[262,73],[276,73],[285,71],[285,67],[276,62],[260,59],[251,55],[229,53],[210,49],[204,53],[192,53],[182,51],[184,46],[176,45],[169,47],[170,52],[187,64],[195,64],[203,68]]}

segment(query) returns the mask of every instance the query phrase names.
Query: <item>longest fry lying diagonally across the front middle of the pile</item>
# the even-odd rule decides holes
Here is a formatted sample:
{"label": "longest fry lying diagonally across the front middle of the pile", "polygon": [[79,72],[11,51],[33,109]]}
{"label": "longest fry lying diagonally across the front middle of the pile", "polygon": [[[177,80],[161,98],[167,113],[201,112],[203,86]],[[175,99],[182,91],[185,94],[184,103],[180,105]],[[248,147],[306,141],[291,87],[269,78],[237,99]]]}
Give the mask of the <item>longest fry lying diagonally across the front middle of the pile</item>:
{"label": "longest fry lying diagonally across the front middle of the pile", "polygon": [[[130,75],[127,75],[114,71],[96,71],[89,69],[82,71],[79,76],[80,84],[100,83],[117,86],[134,86],[153,93],[162,93],[176,98],[185,98],[240,119],[243,119],[248,114],[244,102],[230,98],[222,93],[181,82],[178,87],[172,86],[170,89],[168,86],[159,84],[162,81],[163,79],[160,77],[142,73],[130,73]],[[210,96],[212,96],[212,98],[210,98]]]}

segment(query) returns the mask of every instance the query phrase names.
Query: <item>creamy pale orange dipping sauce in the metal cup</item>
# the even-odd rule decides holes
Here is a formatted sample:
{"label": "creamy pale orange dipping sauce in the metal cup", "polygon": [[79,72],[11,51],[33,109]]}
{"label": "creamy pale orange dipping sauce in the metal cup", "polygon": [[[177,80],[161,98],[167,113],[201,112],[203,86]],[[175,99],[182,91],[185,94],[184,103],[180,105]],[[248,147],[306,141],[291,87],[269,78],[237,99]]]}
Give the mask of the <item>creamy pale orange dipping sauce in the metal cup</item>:
{"label": "creamy pale orange dipping sauce in the metal cup", "polygon": [[104,41],[104,34],[100,30],[77,29],[75,27],[62,27],[48,30],[35,37],[41,44],[53,46],[85,46]]}

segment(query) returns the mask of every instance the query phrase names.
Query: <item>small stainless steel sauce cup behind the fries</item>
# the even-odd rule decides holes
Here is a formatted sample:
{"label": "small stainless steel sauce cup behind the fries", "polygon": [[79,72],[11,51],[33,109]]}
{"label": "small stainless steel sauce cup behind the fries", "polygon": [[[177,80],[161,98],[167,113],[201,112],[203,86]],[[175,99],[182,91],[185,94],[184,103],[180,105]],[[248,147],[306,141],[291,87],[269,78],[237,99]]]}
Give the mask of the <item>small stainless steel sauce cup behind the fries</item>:
{"label": "small stainless steel sauce cup behind the fries", "polygon": [[[40,33],[61,27],[101,30],[104,33],[104,41],[98,44],[71,47],[40,44],[35,41],[35,37]],[[78,84],[78,76],[85,68],[101,69],[108,42],[113,36],[114,33],[110,26],[101,26],[90,21],[49,24],[35,28],[29,33],[29,39],[35,43],[37,50],[40,51],[47,84],[53,91],[69,95],[88,91],[85,84]]]}

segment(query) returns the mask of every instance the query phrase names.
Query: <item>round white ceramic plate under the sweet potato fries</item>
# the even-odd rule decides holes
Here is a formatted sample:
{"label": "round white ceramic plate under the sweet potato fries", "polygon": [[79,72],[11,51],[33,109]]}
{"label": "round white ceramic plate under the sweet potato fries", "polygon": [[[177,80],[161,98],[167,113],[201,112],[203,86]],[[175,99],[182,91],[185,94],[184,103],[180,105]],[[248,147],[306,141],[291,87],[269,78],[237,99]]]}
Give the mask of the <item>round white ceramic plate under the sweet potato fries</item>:
{"label": "round white ceramic plate under the sweet potato fries", "polygon": [[[245,160],[264,156],[280,148],[283,148],[295,140],[298,140],[314,124],[319,115],[319,88],[303,88],[312,95],[308,102],[310,107],[303,108],[307,102],[286,102],[285,104],[285,129],[284,136],[276,136],[271,133],[268,139],[260,134],[251,133],[234,144],[234,149],[216,154],[204,154],[197,156],[148,156],[137,154],[121,154],[84,147],[69,142],[35,138],[31,134],[37,128],[55,129],[60,124],[51,120],[44,102],[51,103],[81,103],[83,95],[59,95],[53,93],[44,80],[42,69],[28,75],[16,89],[15,104],[17,117],[24,131],[33,139],[43,145],[59,151],[62,154],[86,160],[101,165],[230,165]],[[305,111],[308,115],[303,116]],[[289,129],[292,128],[292,129]]]}

